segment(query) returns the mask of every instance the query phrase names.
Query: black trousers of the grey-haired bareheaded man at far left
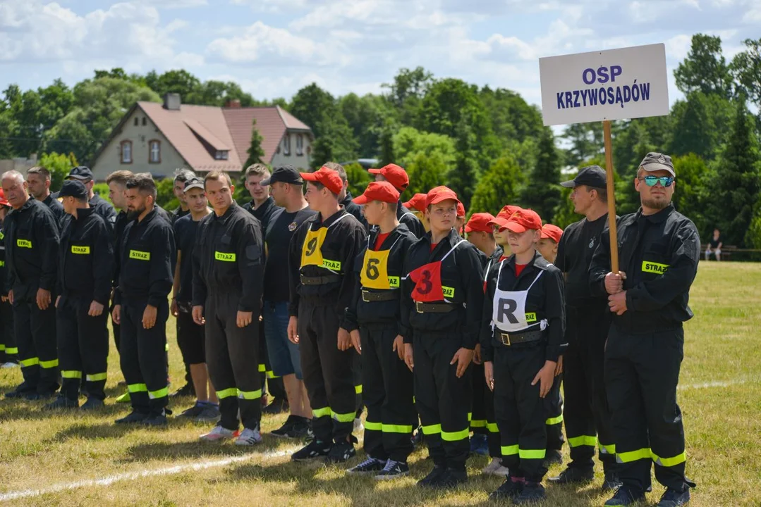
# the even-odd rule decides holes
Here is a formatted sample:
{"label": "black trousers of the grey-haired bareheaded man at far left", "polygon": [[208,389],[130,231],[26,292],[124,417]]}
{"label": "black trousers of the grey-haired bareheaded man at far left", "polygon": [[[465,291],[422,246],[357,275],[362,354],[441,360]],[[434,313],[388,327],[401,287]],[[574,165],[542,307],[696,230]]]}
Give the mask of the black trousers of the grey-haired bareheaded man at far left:
{"label": "black trousers of the grey-haired bareheaded man at far left", "polygon": [[45,310],[35,296],[14,299],[13,318],[18,361],[24,375],[24,391],[46,394],[58,389],[58,351],[56,350],[56,295]]}

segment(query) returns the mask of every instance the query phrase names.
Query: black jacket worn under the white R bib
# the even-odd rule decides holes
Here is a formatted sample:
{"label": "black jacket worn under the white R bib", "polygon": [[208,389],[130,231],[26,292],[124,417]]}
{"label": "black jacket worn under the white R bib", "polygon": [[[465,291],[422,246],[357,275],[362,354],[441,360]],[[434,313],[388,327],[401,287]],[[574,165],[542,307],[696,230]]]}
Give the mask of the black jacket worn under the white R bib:
{"label": "black jacket worn under the white R bib", "polygon": [[[499,274],[499,265],[502,265],[501,274]],[[536,283],[531,285],[540,271],[544,271]],[[492,330],[492,312],[494,293],[497,289],[497,276],[499,274],[499,290],[520,291],[531,289],[526,296],[525,312],[531,315],[527,318],[529,327],[518,333],[540,331],[541,322],[546,319],[546,340],[530,341],[523,344],[513,344],[507,346],[498,338],[497,328]],[[527,348],[527,347],[545,347],[545,357],[547,360],[557,362],[558,357],[563,353],[565,347],[565,295],[563,290],[563,274],[554,265],[549,264],[539,252],[533,256],[533,262],[530,262],[521,271],[521,275],[515,276],[515,255],[511,255],[504,261],[495,262],[486,275],[486,298],[483,305],[483,318],[481,324],[481,357],[484,361],[494,360],[494,348]]]}

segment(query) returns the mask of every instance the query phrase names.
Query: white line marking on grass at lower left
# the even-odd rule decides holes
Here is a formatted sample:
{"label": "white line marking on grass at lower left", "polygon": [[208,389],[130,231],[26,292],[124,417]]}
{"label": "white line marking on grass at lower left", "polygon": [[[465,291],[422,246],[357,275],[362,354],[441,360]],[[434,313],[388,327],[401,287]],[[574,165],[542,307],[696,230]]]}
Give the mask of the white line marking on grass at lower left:
{"label": "white line marking on grass at lower left", "polygon": [[206,470],[207,468],[224,467],[225,465],[228,465],[228,464],[240,463],[241,461],[249,461],[250,459],[256,458],[256,457],[282,458],[283,456],[291,455],[293,452],[296,452],[296,451],[298,451],[298,448],[291,449],[288,451],[266,452],[264,454],[252,453],[250,455],[245,455],[245,456],[234,456],[232,458],[225,458],[225,459],[219,459],[219,460],[213,460],[213,461],[201,461],[200,463],[178,464],[177,466],[174,466],[174,467],[156,468],[153,470],[143,470],[138,472],[127,472],[125,474],[115,474],[115,475],[110,475],[108,477],[103,477],[102,479],[78,480],[77,482],[74,482],[74,483],[56,484],[54,486],[41,488],[40,490],[11,491],[10,493],[0,493],[0,502],[8,502],[8,500],[29,498],[32,496],[47,495],[49,493],[60,493],[62,491],[76,490],[81,487],[110,486],[113,483],[117,483],[123,480],[136,480],[136,479],[142,479],[144,477],[172,475],[172,474],[180,474],[181,472],[185,472],[185,471],[199,471],[199,470]]}

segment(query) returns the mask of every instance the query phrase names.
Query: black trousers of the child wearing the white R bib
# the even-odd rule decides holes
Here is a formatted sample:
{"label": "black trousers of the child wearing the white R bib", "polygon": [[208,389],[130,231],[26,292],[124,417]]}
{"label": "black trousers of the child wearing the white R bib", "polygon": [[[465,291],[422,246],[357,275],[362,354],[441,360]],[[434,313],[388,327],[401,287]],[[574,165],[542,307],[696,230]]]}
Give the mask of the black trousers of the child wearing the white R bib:
{"label": "black trousers of the child wearing the white R bib", "polygon": [[[495,347],[494,408],[502,439],[502,465],[511,477],[541,482],[547,448],[546,409],[540,382],[531,385],[545,363],[544,347]],[[417,365],[416,365],[417,366]]]}

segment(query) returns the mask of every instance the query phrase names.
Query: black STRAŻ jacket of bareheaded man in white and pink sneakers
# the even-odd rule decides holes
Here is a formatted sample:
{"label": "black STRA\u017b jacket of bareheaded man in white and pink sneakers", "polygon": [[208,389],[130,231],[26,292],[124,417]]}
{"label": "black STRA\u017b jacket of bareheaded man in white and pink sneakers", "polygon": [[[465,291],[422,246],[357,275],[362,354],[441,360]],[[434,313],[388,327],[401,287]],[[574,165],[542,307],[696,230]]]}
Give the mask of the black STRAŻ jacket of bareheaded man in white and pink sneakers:
{"label": "black STRA\u017b jacket of bareheaded man in white and pink sneakers", "polygon": [[209,293],[234,293],[239,312],[258,312],[264,283],[262,226],[233,202],[221,217],[201,219],[193,249],[193,306],[204,306]]}

